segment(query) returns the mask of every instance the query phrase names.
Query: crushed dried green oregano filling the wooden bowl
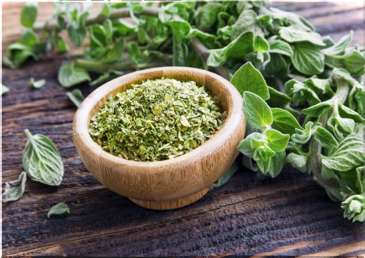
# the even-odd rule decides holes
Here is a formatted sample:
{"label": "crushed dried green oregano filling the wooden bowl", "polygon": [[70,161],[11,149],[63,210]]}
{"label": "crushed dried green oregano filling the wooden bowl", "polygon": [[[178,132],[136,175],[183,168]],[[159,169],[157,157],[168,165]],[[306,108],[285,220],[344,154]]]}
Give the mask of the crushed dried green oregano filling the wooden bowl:
{"label": "crushed dried green oregano filling the wooden bowl", "polygon": [[89,134],[111,154],[131,160],[171,159],[211,138],[222,126],[219,98],[196,82],[147,80],[109,96]]}

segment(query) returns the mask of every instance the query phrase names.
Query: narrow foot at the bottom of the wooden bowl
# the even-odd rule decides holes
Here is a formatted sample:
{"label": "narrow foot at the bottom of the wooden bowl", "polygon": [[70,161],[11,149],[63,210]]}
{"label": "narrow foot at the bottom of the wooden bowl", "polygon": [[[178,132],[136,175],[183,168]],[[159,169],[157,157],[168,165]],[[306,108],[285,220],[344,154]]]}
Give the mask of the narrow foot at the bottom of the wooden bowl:
{"label": "narrow foot at the bottom of the wooden bowl", "polygon": [[208,191],[209,191],[209,187],[207,187],[199,192],[196,192],[192,195],[178,198],[178,199],[169,200],[169,201],[142,201],[142,200],[137,200],[137,199],[132,199],[132,198],[128,198],[128,199],[130,199],[135,204],[148,208],[148,209],[171,210],[171,209],[177,209],[180,207],[184,207],[184,206],[189,205],[190,203],[196,202],[201,197],[203,197]]}

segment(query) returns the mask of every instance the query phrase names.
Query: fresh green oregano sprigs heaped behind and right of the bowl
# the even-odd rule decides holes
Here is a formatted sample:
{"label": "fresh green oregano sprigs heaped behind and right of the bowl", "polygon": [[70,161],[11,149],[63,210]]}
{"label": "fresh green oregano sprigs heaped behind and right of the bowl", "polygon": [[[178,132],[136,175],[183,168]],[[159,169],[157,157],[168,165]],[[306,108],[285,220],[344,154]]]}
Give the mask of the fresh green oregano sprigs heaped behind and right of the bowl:
{"label": "fresh green oregano sprigs heaped behind and right of the bowl", "polygon": [[[88,32],[89,44],[59,69],[64,87],[157,66],[212,70],[243,96],[248,124],[238,150],[247,168],[272,177],[285,163],[313,172],[330,198],[342,201],[345,217],[364,221],[365,59],[363,47],[350,46],[352,31],[334,42],[304,17],[261,1],[104,3],[93,16],[86,5],[58,2],[42,24],[34,23],[37,13],[24,5],[22,39],[5,58],[10,67],[52,48],[67,51],[65,29],[76,46]],[[68,96],[75,104],[83,98],[79,91]],[[236,165],[212,187],[227,182]]]}

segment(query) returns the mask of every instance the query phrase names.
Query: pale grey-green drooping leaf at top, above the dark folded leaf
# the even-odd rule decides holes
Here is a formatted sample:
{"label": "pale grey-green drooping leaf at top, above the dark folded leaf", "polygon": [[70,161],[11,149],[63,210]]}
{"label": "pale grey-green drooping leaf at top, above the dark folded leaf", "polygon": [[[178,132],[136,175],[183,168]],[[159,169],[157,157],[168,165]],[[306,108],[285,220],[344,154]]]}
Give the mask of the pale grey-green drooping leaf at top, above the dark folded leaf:
{"label": "pale grey-green drooping leaf at top, above the dark folded leaf", "polygon": [[265,36],[264,31],[257,23],[257,14],[253,10],[244,10],[238,16],[237,21],[232,25],[231,40],[236,39],[243,32],[252,31],[255,35]]}

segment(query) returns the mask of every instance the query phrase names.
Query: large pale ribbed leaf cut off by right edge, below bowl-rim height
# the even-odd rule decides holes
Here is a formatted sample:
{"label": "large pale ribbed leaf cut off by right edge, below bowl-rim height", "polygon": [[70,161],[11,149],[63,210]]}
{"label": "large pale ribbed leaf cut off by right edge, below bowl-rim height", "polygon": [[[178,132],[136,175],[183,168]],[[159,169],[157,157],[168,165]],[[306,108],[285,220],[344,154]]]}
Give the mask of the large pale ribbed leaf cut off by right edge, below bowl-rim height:
{"label": "large pale ribbed leaf cut off by right edge, below bowl-rim height", "polygon": [[363,162],[365,162],[364,140],[356,134],[344,138],[331,156],[322,158],[324,166],[337,171],[350,170],[361,166]]}

